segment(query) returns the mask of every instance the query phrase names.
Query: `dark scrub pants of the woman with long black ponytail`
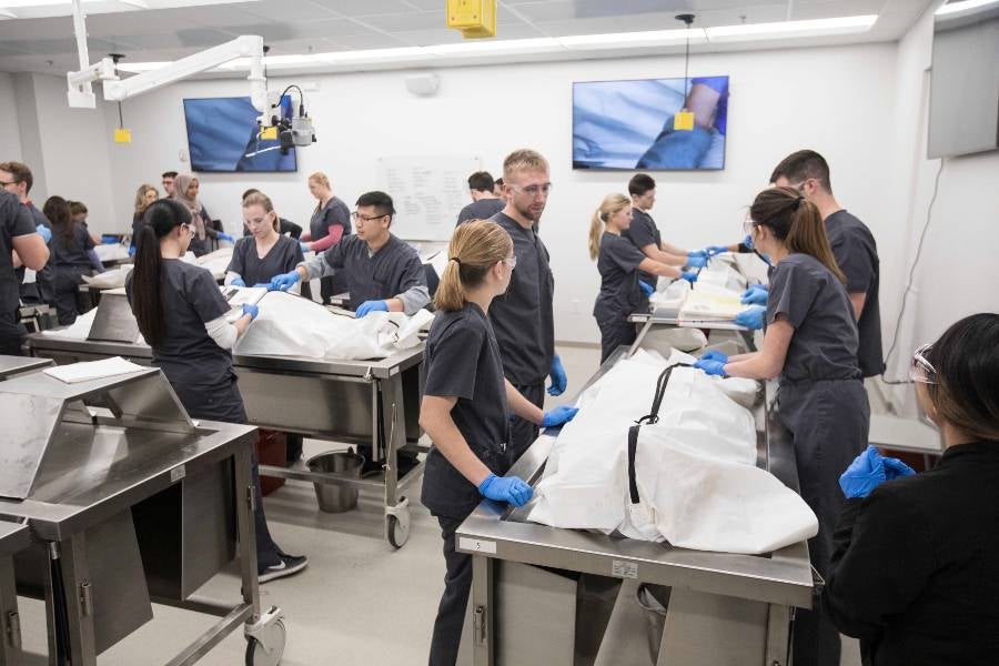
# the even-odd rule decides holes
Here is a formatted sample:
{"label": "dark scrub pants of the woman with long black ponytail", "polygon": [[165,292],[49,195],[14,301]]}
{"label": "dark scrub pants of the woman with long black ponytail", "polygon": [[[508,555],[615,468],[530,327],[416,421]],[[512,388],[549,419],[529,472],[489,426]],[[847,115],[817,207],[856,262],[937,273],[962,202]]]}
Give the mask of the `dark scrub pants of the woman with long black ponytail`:
{"label": "dark scrub pants of the woman with long black ponytail", "polygon": [[[218,384],[174,384],[173,382],[170,384],[191,418],[243,425],[250,423],[235,375]],[[281,563],[281,549],[271,538],[271,531],[268,529],[263,496],[260,494],[260,467],[256,462],[256,453],[251,453],[253,455],[253,492],[256,503],[256,511],[253,512],[253,522],[256,526],[256,568],[259,572],[263,572],[269,566]]]}

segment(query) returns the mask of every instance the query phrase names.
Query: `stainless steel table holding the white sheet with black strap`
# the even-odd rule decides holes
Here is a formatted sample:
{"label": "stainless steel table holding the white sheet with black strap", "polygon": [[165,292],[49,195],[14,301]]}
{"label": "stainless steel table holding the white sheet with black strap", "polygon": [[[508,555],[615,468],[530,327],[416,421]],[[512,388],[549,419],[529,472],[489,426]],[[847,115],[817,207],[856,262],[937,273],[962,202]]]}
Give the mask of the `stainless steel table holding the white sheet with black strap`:
{"label": "stainless steel table holding the white sheet with black strap", "polygon": [[[591,384],[627,353],[620,347]],[[797,491],[790,437],[754,407],[757,465]],[[536,483],[555,444],[544,434],[509,471]],[[794,608],[810,608],[807,543],[764,556],[709,553],[526,522],[527,509],[485,501],[457,531],[473,555],[465,642],[475,666],[593,664],[620,581],[670,587],[658,664],[786,666]]]}

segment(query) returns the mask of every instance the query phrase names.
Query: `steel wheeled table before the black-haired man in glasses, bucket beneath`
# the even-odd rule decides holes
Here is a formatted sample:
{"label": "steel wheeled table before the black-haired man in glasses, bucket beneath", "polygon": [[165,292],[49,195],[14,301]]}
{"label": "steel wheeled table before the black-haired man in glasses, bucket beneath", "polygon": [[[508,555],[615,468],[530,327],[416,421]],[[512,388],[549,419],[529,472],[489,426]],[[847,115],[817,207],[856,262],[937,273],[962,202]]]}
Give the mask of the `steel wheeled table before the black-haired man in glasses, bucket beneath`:
{"label": "steel wheeled table before the black-haired man in glasses, bucket beneath", "polygon": [[[108,294],[99,305],[91,339],[67,340],[32,334],[31,354],[58,364],[124,356],[149,365],[152,350],[135,340],[138,326],[123,295]],[[119,342],[112,342],[119,341]],[[423,463],[400,476],[398,452],[417,448],[420,376],[424,345],[377,361],[317,361],[293,356],[233,356],[240,392],[253,425],[371,447],[382,471],[365,478],[312,472],[299,462],[291,467],[261,465],[265,476],[310,483],[349,485],[384,493],[385,538],[402,547],[410,535],[405,488],[420,478]]]}

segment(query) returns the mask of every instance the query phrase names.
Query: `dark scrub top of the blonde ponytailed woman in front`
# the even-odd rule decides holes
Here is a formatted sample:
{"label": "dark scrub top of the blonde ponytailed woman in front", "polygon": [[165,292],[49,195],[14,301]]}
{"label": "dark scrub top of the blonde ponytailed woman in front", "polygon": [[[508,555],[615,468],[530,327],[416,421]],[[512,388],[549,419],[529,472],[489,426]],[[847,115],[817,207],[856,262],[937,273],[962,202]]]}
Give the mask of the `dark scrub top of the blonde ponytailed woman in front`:
{"label": "dark scrub top of the blonde ponytailed woman in front", "polygon": [[[494,301],[495,302],[495,301]],[[496,475],[509,468],[508,411],[503,362],[478,305],[438,312],[426,341],[425,395],[457,397],[451,417],[468,447]],[[436,447],[423,473],[422,502],[433,514],[463,517],[482,501],[476,488]]]}

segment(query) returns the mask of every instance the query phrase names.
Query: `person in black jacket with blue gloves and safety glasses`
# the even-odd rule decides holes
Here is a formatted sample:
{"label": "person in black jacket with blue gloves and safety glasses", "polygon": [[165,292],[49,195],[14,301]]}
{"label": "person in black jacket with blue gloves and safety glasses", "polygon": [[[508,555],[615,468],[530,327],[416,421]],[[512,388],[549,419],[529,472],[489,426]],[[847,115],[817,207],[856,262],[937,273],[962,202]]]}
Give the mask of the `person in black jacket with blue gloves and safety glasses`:
{"label": "person in black jacket with blue gloves and safety glasses", "polygon": [[945,452],[929,472],[870,447],[847,496],[823,606],[871,666],[999,660],[999,314],[953,324],[910,377]]}

